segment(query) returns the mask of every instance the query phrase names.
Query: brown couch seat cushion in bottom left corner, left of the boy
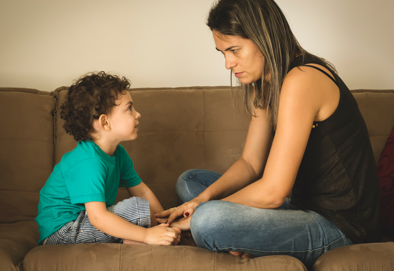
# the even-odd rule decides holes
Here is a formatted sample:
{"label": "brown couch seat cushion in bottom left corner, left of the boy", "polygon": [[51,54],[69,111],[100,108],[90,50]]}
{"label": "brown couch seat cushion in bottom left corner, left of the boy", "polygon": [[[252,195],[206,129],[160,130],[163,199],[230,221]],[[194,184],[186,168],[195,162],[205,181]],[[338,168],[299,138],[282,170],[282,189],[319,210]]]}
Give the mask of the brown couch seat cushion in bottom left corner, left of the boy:
{"label": "brown couch seat cushion in bottom left corner, left of the boy", "polygon": [[38,226],[33,220],[0,224],[0,270],[16,270],[27,252],[37,246]]}

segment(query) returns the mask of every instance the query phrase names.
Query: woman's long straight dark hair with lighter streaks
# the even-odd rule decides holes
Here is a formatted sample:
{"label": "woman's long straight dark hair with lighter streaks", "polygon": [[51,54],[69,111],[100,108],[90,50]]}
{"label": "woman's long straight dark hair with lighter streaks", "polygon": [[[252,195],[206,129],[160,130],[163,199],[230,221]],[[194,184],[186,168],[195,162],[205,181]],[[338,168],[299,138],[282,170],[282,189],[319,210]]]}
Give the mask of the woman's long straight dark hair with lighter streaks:
{"label": "woman's long straight dark hair with lighter streaks", "polygon": [[[282,10],[273,0],[219,0],[208,15],[207,26],[221,35],[250,39],[265,57],[261,79],[242,84],[245,113],[251,117],[254,108],[271,110],[271,124],[276,130],[279,96],[282,83],[289,72],[290,63],[296,56],[313,57],[327,61],[305,51],[294,37]],[[264,80],[270,76],[270,82]],[[232,76],[231,76],[232,89]],[[268,110],[267,110],[268,113]]]}

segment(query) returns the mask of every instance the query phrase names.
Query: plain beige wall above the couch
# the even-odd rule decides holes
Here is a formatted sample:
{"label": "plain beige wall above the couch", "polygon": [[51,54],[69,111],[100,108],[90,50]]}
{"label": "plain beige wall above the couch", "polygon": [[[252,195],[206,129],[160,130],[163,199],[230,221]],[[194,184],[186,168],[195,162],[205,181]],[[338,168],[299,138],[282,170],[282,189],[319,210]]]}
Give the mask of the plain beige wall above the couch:
{"label": "plain beige wall above the couch", "polygon": [[[51,91],[94,70],[132,87],[229,85],[212,0],[0,0],[0,86]],[[349,88],[394,88],[393,0],[278,0],[302,46]]]}

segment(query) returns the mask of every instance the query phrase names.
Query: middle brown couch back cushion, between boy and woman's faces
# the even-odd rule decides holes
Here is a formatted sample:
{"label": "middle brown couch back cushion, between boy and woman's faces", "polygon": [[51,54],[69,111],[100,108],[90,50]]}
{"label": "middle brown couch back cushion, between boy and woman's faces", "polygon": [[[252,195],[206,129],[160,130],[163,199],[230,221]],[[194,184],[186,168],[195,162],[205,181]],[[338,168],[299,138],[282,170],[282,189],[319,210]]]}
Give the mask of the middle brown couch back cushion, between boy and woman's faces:
{"label": "middle brown couch back cushion, between boy and woman's faces", "polygon": [[[76,142],[65,133],[59,116],[66,90],[56,92],[58,163]],[[130,93],[141,113],[138,138],[121,144],[164,208],[178,204],[175,184],[182,172],[193,168],[224,172],[239,157],[248,123],[232,107],[229,87],[132,89]],[[125,189],[119,189],[117,200],[125,197]]]}

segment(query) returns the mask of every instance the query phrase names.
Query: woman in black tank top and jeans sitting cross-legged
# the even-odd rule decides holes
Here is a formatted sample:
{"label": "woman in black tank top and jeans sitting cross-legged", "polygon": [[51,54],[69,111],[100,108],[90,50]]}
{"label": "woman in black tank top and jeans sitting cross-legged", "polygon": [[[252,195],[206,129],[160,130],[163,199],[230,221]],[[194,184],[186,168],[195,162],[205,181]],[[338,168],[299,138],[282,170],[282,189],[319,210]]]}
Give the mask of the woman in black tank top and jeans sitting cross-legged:
{"label": "woman in black tank top and jeans sitting cross-legged", "polygon": [[300,46],[273,0],[220,0],[207,25],[250,115],[244,150],[223,175],[182,174],[184,203],[156,216],[190,228],[200,247],[308,268],[329,249],[379,241],[368,132],[333,66]]}

